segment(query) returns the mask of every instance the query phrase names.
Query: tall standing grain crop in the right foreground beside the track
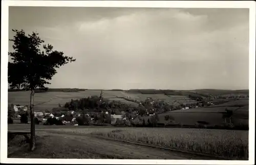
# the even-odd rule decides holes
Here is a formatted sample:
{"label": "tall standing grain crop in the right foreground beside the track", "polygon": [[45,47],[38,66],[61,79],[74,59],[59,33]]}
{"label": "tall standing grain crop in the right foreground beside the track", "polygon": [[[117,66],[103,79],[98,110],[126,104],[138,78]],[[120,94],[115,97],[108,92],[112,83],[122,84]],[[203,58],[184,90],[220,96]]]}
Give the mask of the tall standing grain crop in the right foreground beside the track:
{"label": "tall standing grain crop in the right foreground beside the track", "polygon": [[248,159],[248,131],[137,128],[92,132],[94,135],[183,151]]}

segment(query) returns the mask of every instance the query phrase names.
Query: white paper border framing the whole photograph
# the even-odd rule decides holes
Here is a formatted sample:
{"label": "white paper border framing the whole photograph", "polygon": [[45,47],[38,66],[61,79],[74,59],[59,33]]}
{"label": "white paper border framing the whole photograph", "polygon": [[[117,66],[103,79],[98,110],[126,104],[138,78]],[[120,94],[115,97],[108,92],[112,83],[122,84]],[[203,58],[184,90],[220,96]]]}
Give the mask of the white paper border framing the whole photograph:
{"label": "white paper border framing the whole photograph", "polygon": [[[7,158],[9,6],[249,8],[249,160],[29,159]],[[255,2],[254,1],[2,1],[1,25],[1,163],[59,164],[254,164],[255,147]]]}

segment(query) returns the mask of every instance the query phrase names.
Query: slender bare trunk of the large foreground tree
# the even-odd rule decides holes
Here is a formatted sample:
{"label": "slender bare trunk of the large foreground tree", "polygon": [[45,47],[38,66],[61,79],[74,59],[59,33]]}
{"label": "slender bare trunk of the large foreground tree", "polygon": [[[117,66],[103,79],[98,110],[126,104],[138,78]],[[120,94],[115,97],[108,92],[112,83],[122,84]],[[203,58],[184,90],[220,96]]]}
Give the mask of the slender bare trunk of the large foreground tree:
{"label": "slender bare trunk of the large foreground tree", "polygon": [[35,123],[34,123],[34,95],[35,91],[32,89],[30,93],[30,149],[35,150]]}

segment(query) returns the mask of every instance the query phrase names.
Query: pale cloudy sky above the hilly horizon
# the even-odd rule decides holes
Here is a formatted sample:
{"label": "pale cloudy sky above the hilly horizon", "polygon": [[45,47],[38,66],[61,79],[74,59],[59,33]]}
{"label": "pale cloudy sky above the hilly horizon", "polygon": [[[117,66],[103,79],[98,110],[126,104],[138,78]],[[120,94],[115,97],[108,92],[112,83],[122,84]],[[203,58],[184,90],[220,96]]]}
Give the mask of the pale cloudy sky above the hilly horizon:
{"label": "pale cloudy sky above the hilly horizon", "polygon": [[76,59],[50,88],[249,89],[249,9],[10,7],[12,29]]}

